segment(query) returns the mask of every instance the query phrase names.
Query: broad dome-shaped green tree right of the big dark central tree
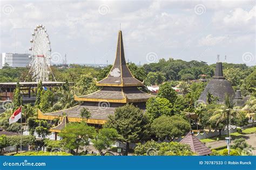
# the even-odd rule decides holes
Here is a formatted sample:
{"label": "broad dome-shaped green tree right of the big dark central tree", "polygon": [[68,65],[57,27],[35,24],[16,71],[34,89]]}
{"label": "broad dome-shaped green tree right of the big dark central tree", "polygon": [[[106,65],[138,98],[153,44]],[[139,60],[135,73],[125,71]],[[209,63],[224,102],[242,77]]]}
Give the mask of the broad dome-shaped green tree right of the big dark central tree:
{"label": "broad dome-shaped green tree right of the big dark central tree", "polygon": [[179,116],[160,116],[151,124],[152,133],[161,140],[173,140],[190,130],[191,126]]}

